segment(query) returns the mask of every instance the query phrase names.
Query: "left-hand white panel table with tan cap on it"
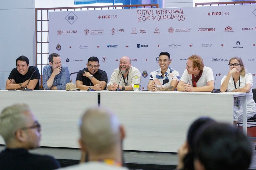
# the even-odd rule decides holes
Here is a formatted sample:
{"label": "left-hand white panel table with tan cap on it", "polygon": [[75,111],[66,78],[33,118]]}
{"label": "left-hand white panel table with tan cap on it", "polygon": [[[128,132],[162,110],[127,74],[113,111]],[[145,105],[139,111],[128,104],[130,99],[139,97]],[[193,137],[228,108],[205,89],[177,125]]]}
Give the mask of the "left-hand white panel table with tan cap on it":
{"label": "left-hand white panel table with tan cap on it", "polygon": [[0,100],[0,112],[17,103],[29,105],[42,125],[41,146],[78,148],[78,120],[85,109],[98,106],[98,92],[0,90]]}

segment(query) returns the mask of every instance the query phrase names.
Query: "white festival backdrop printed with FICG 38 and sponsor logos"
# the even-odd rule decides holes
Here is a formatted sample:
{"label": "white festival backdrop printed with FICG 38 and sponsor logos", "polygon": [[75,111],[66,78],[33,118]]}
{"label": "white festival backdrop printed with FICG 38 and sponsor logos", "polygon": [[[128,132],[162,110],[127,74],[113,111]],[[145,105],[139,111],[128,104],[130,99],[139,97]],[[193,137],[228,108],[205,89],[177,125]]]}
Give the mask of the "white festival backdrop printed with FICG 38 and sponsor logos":
{"label": "white festival backdrop printed with FICG 38 and sponsor logos", "polygon": [[[120,57],[127,55],[132,66],[141,74],[144,71],[144,89],[150,72],[159,68],[157,57],[162,51],[171,54],[171,67],[180,77],[188,56],[202,56],[204,65],[218,75],[217,89],[229,70],[228,60],[239,56],[256,82],[255,10],[256,5],[232,5],[50,12],[49,49],[60,54],[70,73],[97,56],[108,80]],[[75,82],[76,74],[71,78]]]}

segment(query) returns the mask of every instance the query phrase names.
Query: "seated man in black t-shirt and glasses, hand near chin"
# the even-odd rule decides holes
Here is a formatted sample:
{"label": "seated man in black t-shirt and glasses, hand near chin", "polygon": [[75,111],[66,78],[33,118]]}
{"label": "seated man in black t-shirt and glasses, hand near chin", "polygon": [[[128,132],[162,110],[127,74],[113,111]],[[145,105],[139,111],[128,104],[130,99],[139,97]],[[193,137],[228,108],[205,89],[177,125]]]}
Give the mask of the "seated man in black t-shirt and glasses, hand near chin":
{"label": "seated man in black t-shirt and glasses, hand near chin", "polygon": [[106,71],[99,69],[99,59],[94,56],[88,58],[86,67],[87,68],[78,71],[76,76],[76,87],[81,90],[88,90],[92,81],[92,89],[106,90],[108,75]]}

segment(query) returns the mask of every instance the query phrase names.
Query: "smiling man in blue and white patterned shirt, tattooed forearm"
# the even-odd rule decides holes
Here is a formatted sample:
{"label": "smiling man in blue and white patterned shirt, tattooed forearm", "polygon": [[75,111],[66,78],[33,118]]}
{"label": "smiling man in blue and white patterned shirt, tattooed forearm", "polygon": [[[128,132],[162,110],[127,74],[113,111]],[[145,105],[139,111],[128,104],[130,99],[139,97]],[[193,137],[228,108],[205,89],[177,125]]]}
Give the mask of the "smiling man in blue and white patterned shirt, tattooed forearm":
{"label": "smiling man in blue and white patterned shirt, tattooed forearm", "polygon": [[158,64],[160,69],[150,73],[148,91],[174,91],[180,81],[180,74],[169,67],[171,64],[170,54],[161,52]]}

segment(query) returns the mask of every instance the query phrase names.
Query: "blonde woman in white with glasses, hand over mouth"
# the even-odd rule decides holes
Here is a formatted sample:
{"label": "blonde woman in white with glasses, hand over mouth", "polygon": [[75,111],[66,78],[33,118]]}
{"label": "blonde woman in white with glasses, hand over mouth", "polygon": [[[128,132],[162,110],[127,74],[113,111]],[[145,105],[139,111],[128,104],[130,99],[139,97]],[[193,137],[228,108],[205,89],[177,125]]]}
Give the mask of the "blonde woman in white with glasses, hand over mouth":
{"label": "blonde woman in white with glasses, hand over mouth", "polygon": [[[246,92],[247,94],[247,119],[256,113],[256,104],[252,99],[252,74],[246,74],[244,63],[241,58],[233,57],[229,60],[227,76],[221,80],[220,91]],[[243,98],[234,98],[234,126],[243,121]]]}

